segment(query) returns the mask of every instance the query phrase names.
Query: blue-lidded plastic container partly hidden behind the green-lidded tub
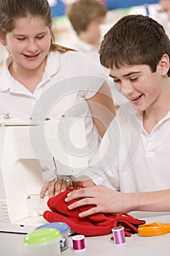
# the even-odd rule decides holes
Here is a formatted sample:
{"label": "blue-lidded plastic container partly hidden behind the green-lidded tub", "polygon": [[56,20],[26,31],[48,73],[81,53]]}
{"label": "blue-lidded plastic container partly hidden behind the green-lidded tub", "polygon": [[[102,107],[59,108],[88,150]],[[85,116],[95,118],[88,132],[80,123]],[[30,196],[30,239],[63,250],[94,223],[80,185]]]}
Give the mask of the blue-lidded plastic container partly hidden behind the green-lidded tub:
{"label": "blue-lidded plastic container partly hidden behind the green-lidded tub", "polygon": [[50,222],[45,225],[41,225],[39,227],[36,227],[35,230],[40,230],[42,228],[55,228],[56,230],[59,230],[61,233],[61,251],[64,251],[69,246],[69,231],[70,227],[65,222]]}

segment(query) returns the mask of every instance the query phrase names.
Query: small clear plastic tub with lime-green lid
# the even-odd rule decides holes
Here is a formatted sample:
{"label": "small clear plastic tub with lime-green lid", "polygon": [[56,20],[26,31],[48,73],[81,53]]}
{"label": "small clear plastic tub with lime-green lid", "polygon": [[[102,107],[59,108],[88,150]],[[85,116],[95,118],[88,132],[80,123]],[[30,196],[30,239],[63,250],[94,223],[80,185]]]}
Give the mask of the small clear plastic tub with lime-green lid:
{"label": "small clear plastic tub with lime-green lid", "polygon": [[29,256],[60,256],[60,241],[61,233],[54,228],[34,230],[23,238]]}

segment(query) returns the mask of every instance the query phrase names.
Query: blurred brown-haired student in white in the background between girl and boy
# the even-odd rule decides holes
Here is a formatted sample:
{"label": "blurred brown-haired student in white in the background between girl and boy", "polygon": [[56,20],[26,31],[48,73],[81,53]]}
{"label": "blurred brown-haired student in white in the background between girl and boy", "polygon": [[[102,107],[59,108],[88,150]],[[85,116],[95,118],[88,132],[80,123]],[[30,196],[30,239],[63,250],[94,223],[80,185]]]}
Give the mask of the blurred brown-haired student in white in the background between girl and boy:
{"label": "blurred brown-haired student in white in the background between girl and boy", "polygon": [[107,7],[101,1],[79,0],[69,4],[66,15],[76,33],[74,39],[67,45],[98,59],[101,43],[100,26],[107,15]]}

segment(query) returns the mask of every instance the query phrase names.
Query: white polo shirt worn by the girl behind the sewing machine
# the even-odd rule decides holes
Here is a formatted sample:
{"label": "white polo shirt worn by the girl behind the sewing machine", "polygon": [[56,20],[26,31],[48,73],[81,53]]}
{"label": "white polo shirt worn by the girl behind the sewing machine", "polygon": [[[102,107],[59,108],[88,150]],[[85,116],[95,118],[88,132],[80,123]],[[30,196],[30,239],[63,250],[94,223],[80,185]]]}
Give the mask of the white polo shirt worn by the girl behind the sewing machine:
{"label": "white polo shirt worn by the girl behind the sewing machine", "polygon": [[[0,72],[0,115],[28,119],[76,116],[85,121],[89,145],[98,132],[86,99],[101,88],[107,74],[88,54],[50,52],[42,81],[32,94],[9,73],[11,56]],[[96,145],[96,150],[98,145]],[[95,152],[95,151],[94,151]]]}

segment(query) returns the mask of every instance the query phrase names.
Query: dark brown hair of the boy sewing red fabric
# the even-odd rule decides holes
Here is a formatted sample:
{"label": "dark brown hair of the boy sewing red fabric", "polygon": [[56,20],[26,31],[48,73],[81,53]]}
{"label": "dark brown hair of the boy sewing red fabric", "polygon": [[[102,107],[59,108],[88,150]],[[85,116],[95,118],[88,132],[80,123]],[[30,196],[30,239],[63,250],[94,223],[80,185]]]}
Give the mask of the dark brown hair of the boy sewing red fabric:
{"label": "dark brown hair of the boy sewing red fabric", "polygon": [[156,20],[144,15],[127,15],[105,34],[99,53],[104,67],[146,64],[155,72],[163,54],[170,57],[170,41]]}

